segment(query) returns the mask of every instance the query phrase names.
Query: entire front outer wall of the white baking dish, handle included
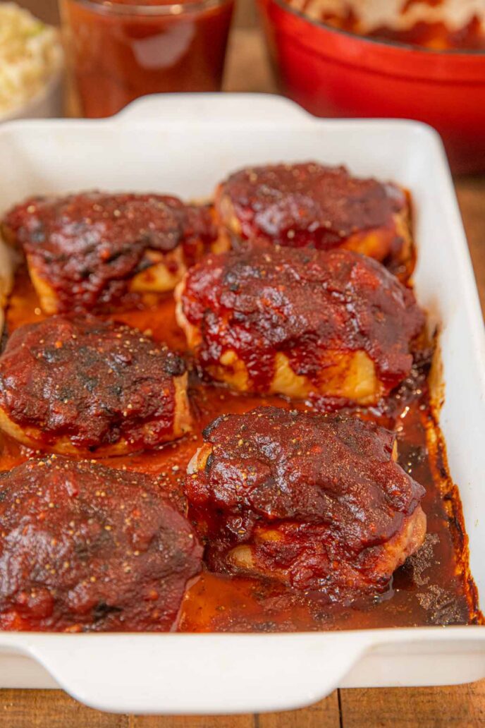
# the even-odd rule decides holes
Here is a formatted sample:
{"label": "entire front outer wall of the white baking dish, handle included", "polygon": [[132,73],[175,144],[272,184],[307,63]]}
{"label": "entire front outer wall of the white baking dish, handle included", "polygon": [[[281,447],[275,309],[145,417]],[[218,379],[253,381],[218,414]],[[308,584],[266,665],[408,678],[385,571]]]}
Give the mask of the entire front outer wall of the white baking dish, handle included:
{"label": "entire front outer wall of the white baking dish, handle included", "polygon": [[[485,676],[483,627],[293,634],[0,632],[0,656],[42,665],[82,703],[113,713],[283,711],[339,686],[448,684]],[[453,672],[452,672],[453,674]],[[1,679],[1,675],[0,675]],[[249,703],[248,703],[249,701]]]}

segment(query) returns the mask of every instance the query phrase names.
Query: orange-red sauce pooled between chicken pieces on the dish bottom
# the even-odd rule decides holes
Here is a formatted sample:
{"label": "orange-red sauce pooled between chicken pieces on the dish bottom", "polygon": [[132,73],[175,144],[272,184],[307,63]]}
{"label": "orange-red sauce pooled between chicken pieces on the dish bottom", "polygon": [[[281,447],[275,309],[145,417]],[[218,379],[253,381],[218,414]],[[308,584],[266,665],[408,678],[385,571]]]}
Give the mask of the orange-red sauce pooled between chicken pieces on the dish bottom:
{"label": "orange-red sauce pooled between chicken pieces on the dish bottom", "polygon": [[[132,309],[112,318],[151,331],[157,341],[185,351],[185,337],[175,322],[172,296],[153,306]],[[17,274],[7,309],[7,331],[43,317],[25,270]],[[387,427],[396,424],[398,462],[426,489],[422,507],[428,535],[420,550],[394,574],[392,587],[371,604],[329,605],[276,581],[229,577],[204,571],[185,594],[177,630],[181,632],[273,632],[338,630],[418,625],[464,625],[481,621],[476,590],[468,571],[468,550],[460,498],[446,470],[446,453],[436,427],[428,392],[428,364],[423,362],[385,407],[359,411]],[[110,467],[158,475],[173,496],[181,492],[188,461],[201,446],[201,430],[220,414],[244,413],[258,405],[322,408],[323,402],[289,403],[282,397],[258,397],[231,392],[191,374],[193,434],[140,454],[100,460]],[[0,470],[9,470],[33,454],[0,436]],[[0,618],[0,628],[8,627]]]}

